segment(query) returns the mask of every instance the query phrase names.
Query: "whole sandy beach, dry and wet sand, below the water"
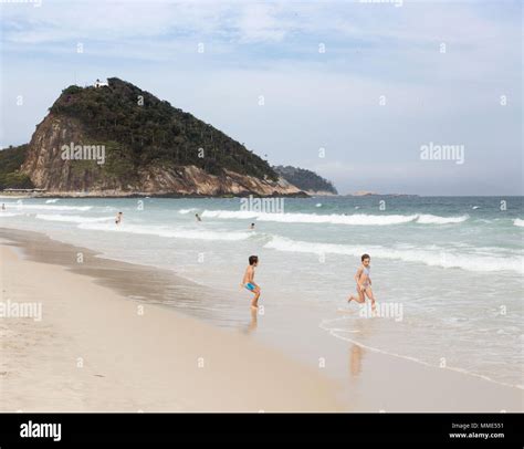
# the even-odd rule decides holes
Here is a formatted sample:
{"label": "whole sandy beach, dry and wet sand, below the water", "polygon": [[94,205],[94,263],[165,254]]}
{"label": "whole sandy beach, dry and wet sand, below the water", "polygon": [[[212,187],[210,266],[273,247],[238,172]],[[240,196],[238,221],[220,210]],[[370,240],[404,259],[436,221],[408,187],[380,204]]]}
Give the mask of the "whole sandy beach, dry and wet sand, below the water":
{"label": "whole sandy beach, dry and wet sand, below the water", "polygon": [[[266,344],[254,330],[163,305],[166,289],[186,302],[209,294],[167,271],[36,232],[3,228],[0,243],[4,315],[9,304],[41,307],[41,316],[0,319],[1,411],[524,409],[522,389],[334,340],[315,316]],[[315,366],[318,354],[331,370]]]}

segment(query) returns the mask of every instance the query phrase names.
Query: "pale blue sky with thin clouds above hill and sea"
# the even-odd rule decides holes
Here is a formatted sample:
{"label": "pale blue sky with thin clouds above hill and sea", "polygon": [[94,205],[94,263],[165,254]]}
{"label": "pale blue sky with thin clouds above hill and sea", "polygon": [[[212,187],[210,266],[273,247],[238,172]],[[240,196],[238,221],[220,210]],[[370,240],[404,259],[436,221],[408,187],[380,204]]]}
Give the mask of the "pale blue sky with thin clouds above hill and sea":
{"label": "pale blue sky with thin clouds above hill and sea", "polygon": [[520,0],[0,0],[0,147],[116,76],[340,194],[523,195]]}

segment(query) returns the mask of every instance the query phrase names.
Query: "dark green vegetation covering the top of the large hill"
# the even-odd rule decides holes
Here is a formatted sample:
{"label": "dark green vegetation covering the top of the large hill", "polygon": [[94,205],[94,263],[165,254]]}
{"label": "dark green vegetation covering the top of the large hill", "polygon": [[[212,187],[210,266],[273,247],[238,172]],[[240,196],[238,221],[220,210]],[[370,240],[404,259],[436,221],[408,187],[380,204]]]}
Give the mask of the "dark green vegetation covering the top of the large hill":
{"label": "dark green vegetation covering the top of the large hill", "polygon": [[[108,86],[70,86],[50,111],[77,118],[87,137],[112,144],[108,155],[126,167],[195,165],[220,175],[277,179],[271,166],[213,126],[172,107],[137,86],[108,80]],[[199,157],[203,150],[203,157]],[[117,166],[116,164],[115,166]]]}

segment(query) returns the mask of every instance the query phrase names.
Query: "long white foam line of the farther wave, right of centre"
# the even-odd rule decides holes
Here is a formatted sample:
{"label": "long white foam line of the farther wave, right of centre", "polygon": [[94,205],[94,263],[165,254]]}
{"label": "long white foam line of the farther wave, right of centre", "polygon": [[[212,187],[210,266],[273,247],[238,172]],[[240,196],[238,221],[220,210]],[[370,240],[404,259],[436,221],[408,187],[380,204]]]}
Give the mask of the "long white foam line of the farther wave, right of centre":
{"label": "long white foam line of the farther wave, right of centre", "polygon": [[202,217],[219,219],[256,219],[258,221],[274,221],[285,223],[332,223],[350,226],[389,226],[417,222],[420,224],[460,223],[469,216],[439,217],[426,213],[402,215],[318,215],[318,213],[265,213],[244,210],[205,210]]}

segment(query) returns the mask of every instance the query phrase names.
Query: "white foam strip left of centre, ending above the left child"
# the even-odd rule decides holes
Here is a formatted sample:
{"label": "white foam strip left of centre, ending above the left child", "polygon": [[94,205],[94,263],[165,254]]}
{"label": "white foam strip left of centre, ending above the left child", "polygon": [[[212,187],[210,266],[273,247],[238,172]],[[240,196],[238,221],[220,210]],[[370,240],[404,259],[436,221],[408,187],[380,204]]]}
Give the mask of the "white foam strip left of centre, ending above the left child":
{"label": "white foam strip left of centre, ending above the left child", "polygon": [[114,223],[81,223],[80,229],[107,231],[107,232],[128,232],[135,234],[168,237],[175,239],[190,239],[190,240],[227,240],[237,241],[245,240],[254,236],[253,232],[227,232],[227,231],[210,231],[210,230],[190,230],[177,229],[163,226],[143,226],[122,223],[116,226]]}

